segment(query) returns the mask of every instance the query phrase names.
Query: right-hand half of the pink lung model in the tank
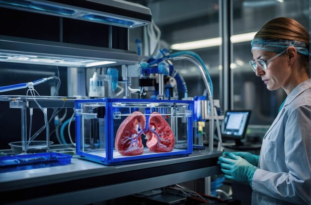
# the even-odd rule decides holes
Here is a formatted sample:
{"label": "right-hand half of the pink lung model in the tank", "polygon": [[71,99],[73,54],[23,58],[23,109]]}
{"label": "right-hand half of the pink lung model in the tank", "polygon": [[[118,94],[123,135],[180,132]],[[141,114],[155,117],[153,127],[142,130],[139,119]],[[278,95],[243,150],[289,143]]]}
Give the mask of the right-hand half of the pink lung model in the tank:
{"label": "right-hand half of the pink lung model in the tank", "polygon": [[153,152],[170,152],[175,145],[172,130],[164,118],[157,112],[153,112],[149,118],[149,130],[145,133],[146,145]]}

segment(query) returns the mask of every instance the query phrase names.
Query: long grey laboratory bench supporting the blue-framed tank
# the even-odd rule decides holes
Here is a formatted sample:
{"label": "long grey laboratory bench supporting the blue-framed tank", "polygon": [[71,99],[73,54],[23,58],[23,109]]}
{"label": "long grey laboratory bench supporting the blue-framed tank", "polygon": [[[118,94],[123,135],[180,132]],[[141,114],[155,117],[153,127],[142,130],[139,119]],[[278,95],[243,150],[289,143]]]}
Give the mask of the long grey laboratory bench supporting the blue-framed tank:
{"label": "long grey laboratory bench supporting the blue-framed tank", "polygon": [[0,173],[0,204],[86,205],[221,173],[220,151],[106,166],[74,155],[68,165]]}

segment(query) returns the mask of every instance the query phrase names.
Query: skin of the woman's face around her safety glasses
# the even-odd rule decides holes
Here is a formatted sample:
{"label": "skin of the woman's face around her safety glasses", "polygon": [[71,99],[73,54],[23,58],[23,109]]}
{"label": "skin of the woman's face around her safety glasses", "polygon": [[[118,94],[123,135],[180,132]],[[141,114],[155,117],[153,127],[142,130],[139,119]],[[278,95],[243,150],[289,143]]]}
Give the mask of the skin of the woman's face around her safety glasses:
{"label": "skin of the woman's face around her safety glasses", "polygon": [[[254,61],[264,60],[265,62],[278,53],[271,51],[253,50]],[[286,56],[279,56],[267,64],[267,69],[256,69],[256,75],[261,77],[263,82],[267,85],[268,90],[276,90],[280,87],[285,88],[288,84],[287,80],[291,75],[291,69]]]}

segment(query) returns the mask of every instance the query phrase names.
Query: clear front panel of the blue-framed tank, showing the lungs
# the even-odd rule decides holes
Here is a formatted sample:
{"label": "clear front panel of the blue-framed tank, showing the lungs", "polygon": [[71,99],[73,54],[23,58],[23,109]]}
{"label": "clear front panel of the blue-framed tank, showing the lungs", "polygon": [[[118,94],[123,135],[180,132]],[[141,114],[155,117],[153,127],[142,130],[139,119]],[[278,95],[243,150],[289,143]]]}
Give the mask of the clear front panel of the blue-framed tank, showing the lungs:
{"label": "clear front panel of the blue-framed tank, showing the lungs", "polygon": [[[113,103],[113,158],[176,152],[188,148],[187,104]],[[141,135],[141,136],[140,136]],[[178,147],[178,148],[177,148]]]}

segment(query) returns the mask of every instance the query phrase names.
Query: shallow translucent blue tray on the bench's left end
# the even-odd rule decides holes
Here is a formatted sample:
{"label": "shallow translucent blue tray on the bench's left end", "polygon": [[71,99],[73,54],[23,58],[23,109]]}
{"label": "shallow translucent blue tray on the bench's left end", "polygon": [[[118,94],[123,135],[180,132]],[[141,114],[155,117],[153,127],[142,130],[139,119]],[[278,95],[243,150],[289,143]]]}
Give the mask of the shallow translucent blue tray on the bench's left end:
{"label": "shallow translucent blue tray on the bench's left end", "polygon": [[71,163],[72,157],[57,152],[0,156],[0,172],[66,165]]}

